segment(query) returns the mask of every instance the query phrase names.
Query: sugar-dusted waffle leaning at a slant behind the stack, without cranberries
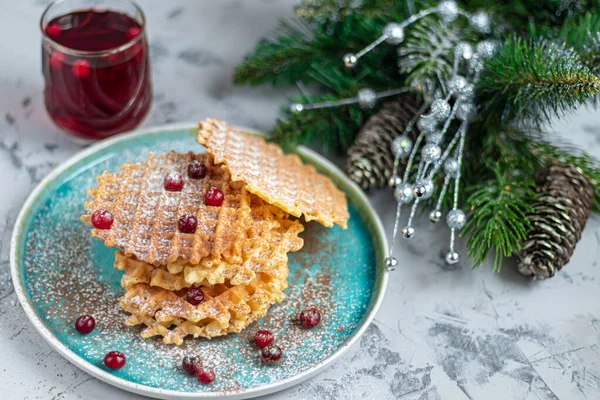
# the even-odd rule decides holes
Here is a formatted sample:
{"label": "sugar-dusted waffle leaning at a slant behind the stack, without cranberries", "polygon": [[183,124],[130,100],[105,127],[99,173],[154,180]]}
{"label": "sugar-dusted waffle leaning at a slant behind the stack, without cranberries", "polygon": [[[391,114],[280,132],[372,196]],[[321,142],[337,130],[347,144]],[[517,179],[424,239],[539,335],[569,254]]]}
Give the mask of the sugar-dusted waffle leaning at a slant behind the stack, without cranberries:
{"label": "sugar-dusted waffle leaning at a slant behind the stack, without cranberries", "polygon": [[296,217],[304,214],[307,221],[346,228],[344,193],[298,156],[285,155],[277,145],[215,119],[200,123],[197,140],[216,163],[226,166],[233,181],[244,182],[266,202]]}

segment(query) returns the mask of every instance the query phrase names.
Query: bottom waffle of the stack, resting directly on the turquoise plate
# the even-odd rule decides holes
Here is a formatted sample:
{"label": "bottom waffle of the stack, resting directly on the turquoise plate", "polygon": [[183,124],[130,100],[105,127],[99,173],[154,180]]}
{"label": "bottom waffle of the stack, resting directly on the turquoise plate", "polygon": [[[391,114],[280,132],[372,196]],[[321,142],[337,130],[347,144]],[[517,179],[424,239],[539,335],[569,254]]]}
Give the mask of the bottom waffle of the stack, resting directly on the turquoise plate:
{"label": "bottom waffle of the stack, resting directly on the turquoise plate", "polygon": [[180,345],[186,336],[215,337],[240,332],[269,307],[285,297],[288,266],[279,264],[270,272],[260,272],[247,285],[202,286],[204,302],[193,306],[185,290],[169,291],[145,283],[125,288],[119,305],[130,313],[126,324],[144,324],[142,337],[162,336],[167,344]]}

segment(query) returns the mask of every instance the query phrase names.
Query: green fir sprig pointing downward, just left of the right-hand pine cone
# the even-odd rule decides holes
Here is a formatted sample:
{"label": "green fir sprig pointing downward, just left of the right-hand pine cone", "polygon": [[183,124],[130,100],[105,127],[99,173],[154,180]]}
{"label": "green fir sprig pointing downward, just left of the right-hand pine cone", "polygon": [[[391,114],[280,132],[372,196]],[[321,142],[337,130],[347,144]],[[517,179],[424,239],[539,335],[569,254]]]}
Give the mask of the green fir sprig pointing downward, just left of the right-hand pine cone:
{"label": "green fir sprig pointing downward, just left of the right-hand pine cone", "polygon": [[526,215],[531,210],[532,187],[531,178],[515,179],[512,171],[496,165],[493,178],[469,189],[471,215],[462,234],[469,235],[467,248],[474,267],[493,251],[493,270],[499,271],[504,257],[519,251],[529,228]]}

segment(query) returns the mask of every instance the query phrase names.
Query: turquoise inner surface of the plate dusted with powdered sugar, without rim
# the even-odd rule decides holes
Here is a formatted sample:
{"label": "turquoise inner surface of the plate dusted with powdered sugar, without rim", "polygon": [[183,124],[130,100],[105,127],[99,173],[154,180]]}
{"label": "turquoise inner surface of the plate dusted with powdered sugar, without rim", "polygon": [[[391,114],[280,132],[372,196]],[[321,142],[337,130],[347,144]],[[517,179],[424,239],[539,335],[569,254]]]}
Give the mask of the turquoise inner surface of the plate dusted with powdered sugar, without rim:
{"label": "turquoise inner surface of the plate dusted with powdered sugar, without rim", "polygon": [[[243,391],[293,377],[325,360],[361,324],[374,290],[374,251],[367,227],[352,207],[346,231],[307,224],[301,235],[304,249],[290,254],[288,297],[246,331],[212,340],[187,339],[178,347],[163,344],[161,338],[143,339],[140,328],[125,326],[127,314],[118,306],[124,292],[119,285],[122,272],[112,267],[114,249],[91,238],[89,227],[79,221],[82,199],[95,185],[97,174],[115,171],[125,157],[136,162],[150,150],[193,146],[193,140],[186,145],[181,136],[175,138],[161,139],[152,147],[142,140],[132,141],[127,150],[116,149],[112,157],[89,169],[79,166],[34,206],[23,253],[26,289],[37,313],[61,342],[91,364],[104,369],[104,355],[121,351],[127,364],[112,374],[163,389]],[[323,316],[314,329],[296,321],[298,312],[309,305],[319,308]],[[86,336],[73,326],[83,314],[93,315],[97,322]],[[275,334],[284,351],[279,365],[262,363],[257,347],[248,340],[258,329]],[[186,354],[199,355],[215,369],[217,378],[211,385],[198,383],[182,370]]]}

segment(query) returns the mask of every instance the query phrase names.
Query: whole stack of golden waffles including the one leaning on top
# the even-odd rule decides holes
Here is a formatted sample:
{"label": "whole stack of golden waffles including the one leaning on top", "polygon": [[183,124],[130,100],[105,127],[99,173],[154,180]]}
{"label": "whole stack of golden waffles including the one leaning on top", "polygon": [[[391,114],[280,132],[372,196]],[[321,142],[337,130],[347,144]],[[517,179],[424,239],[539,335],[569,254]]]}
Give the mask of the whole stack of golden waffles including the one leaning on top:
{"label": "whole stack of golden waffles including the one leaning on top", "polygon": [[[344,194],[276,145],[217,120],[202,122],[197,139],[203,154],[150,154],[105,171],[82,216],[91,224],[94,212],[110,213],[112,225],[92,235],[120,248],[114,266],[125,272],[126,324],[168,344],[240,332],[284,299],[287,254],[303,245],[292,216],[344,228],[349,218]],[[192,162],[206,168],[202,178],[188,174]],[[183,187],[169,191],[173,173]],[[205,200],[214,188],[223,194],[218,206]],[[191,233],[178,225],[185,215],[197,220]],[[199,304],[188,299],[192,288],[202,291]]]}

